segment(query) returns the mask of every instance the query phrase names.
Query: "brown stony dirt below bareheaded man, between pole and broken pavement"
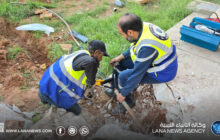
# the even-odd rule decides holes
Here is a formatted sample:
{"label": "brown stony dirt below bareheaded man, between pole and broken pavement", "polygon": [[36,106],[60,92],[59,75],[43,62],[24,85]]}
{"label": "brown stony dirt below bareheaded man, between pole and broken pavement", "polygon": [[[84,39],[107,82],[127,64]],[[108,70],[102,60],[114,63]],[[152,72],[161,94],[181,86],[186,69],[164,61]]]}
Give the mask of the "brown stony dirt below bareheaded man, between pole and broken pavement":
{"label": "brown stony dirt below bareheaded man, between pole and broken pavement", "polygon": [[141,123],[145,126],[147,133],[152,129],[160,128],[160,123],[166,122],[167,110],[161,107],[162,103],[157,101],[152,85],[140,85],[135,91],[136,112]]}

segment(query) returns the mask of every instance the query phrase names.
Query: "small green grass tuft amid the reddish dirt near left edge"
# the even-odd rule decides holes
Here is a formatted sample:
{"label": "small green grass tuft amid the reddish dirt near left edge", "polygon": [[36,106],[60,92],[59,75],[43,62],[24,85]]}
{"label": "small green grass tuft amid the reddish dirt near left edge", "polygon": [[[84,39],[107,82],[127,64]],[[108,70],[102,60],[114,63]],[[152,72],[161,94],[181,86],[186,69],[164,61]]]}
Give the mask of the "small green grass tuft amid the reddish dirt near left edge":
{"label": "small green grass tuft amid the reddish dirt near left edge", "polygon": [[20,46],[13,46],[7,48],[7,59],[15,59],[16,56],[24,51]]}

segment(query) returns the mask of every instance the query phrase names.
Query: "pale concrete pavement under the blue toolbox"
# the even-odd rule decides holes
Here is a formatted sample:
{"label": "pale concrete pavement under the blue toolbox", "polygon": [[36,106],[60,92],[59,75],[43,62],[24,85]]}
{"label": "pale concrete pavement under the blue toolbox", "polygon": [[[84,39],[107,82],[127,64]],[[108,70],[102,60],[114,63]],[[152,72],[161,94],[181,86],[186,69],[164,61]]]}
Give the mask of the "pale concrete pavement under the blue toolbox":
{"label": "pale concrete pavement under the blue toolbox", "polygon": [[[199,5],[202,6],[199,10],[197,6],[197,12],[167,31],[177,46],[178,74],[175,80],[167,83],[169,86],[154,85],[154,90],[158,100],[175,106],[168,107],[168,112],[176,115],[167,116],[168,120],[206,123],[206,135],[213,136],[211,125],[220,120],[220,48],[212,52],[180,40],[180,27],[189,25],[194,17],[208,17],[210,10],[220,15],[219,5]],[[200,12],[201,7],[203,12]]]}

